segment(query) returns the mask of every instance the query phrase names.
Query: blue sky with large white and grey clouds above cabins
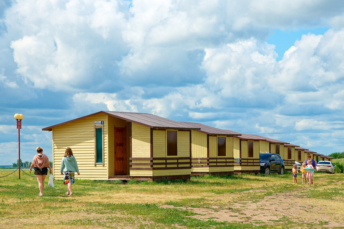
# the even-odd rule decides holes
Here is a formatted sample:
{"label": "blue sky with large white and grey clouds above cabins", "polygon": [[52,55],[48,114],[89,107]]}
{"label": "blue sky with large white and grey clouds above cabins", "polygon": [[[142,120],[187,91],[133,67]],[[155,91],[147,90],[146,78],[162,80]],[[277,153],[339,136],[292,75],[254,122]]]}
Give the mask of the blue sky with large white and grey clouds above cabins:
{"label": "blue sky with large white and grey clouds above cabins", "polygon": [[[42,128],[151,113],[344,151],[344,1],[0,0],[0,164]],[[31,142],[31,143],[24,143]]]}

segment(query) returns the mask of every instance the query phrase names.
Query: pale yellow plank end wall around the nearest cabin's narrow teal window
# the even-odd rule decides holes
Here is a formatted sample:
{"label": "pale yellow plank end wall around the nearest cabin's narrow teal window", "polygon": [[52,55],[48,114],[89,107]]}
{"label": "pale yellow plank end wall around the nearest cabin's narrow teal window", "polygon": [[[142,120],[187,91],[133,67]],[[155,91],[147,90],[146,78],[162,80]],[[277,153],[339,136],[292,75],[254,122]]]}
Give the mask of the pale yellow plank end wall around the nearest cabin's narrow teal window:
{"label": "pale yellow plank end wall around the nearest cabin's narrow teal window", "polygon": [[[104,121],[104,166],[102,164],[94,165],[95,121]],[[71,147],[78,163],[80,175],[77,178],[91,180],[108,179],[107,115],[98,114],[53,128],[53,173],[55,179],[63,179],[63,175],[60,175],[60,165],[67,147]]]}

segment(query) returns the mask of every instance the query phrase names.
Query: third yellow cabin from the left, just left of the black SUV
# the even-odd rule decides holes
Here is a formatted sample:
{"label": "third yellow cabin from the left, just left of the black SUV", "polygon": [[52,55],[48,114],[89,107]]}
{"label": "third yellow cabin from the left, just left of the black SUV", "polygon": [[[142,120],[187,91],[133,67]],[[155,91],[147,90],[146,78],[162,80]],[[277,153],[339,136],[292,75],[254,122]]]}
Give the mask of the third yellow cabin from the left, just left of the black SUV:
{"label": "third yellow cabin from the left, just left of the black SUV", "polygon": [[[234,173],[259,174],[259,141],[262,141],[262,139],[255,135],[235,131],[233,133],[241,134],[241,136],[233,136]],[[266,146],[264,149],[266,149]]]}

